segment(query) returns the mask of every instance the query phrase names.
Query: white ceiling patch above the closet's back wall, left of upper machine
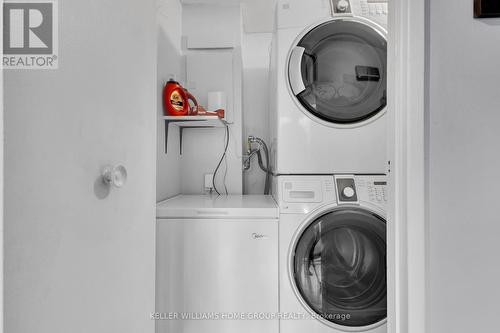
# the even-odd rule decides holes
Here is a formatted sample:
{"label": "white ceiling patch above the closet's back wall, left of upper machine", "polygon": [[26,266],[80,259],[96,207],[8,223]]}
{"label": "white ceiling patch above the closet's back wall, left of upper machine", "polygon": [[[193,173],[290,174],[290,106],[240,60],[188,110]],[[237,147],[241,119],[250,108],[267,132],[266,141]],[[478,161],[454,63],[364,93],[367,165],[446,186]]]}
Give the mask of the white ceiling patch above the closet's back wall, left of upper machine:
{"label": "white ceiling patch above the closet's back wall, left of upper machine", "polygon": [[237,5],[243,9],[243,26],[247,33],[272,32],[276,0],[181,0],[183,4]]}

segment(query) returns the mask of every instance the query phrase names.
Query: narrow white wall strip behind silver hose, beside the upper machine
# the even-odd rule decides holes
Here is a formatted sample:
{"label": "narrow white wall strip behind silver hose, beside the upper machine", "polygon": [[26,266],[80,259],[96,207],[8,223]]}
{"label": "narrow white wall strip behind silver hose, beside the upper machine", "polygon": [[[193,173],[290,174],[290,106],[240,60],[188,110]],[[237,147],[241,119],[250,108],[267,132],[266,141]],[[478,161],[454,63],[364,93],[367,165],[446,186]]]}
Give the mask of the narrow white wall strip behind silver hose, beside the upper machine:
{"label": "narrow white wall strip behind silver hose, beside the upper machine", "polygon": [[[243,33],[243,144],[249,135],[269,142],[269,52],[271,33]],[[246,150],[246,147],[243,148]],[[254,156],[250,170],[243,174],[245,194],[263,194],[266,174]]]}

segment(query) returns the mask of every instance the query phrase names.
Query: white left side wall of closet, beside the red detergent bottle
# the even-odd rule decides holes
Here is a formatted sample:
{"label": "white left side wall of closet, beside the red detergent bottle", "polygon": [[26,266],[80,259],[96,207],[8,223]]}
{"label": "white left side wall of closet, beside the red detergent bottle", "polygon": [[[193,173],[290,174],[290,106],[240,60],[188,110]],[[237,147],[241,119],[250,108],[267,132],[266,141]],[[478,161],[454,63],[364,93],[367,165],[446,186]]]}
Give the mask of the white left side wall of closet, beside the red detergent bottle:
{"label": "white left side wall of closet, beside the red detergent bottle", "polygon": [[158,51],[157,51],[157,186],[156,200],[162,201],[181,193],[181,157],[179,153],[179,128],[170,127],[168,154],[165,154],[165,122],[162,92],[165,82],[174,78],[185,80],[185,62],[182,55],[182,5],[179,0],[157,0]]}

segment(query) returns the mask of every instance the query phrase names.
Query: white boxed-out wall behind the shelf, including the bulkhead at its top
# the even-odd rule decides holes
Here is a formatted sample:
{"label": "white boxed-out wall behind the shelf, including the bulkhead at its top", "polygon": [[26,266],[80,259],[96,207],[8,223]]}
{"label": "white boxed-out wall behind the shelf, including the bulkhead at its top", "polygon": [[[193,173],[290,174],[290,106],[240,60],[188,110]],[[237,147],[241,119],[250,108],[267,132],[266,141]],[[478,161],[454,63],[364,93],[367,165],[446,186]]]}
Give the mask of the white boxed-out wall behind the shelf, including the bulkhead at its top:
{"label": "white boxed-out wall behind the shelf, including the bulkhead at its top", "polygon": [[[186,88],[203,106],[207,106],[209,91],[225,91],[227,112],[232,113],[226,176],[231,194],[243,191],[240,36],[239,5],[183,6]],[[224,135],[224,128],[184,131],[180,174],[183,194],[204,193],[204,175],[217,167],[224,151]],[[223,163],[217,177],[219,191],[223,188],[224,168]]]}

